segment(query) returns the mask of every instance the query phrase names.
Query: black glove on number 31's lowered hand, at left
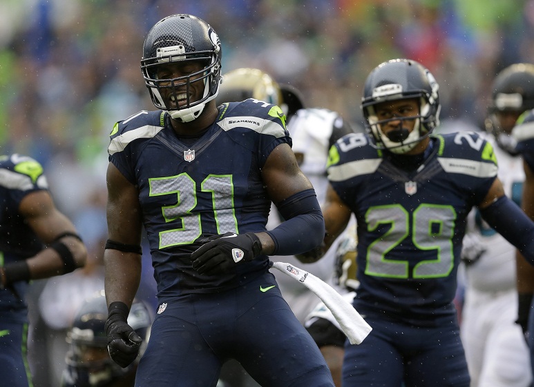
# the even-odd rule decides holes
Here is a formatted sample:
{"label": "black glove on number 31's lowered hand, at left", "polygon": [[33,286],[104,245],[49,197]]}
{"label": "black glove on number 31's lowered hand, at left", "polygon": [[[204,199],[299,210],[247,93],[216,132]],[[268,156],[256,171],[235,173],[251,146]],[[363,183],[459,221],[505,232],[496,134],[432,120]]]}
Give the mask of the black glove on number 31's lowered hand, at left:
{"label": "black glove on number 31's lowered hand, at left", "polygon": [[108,352],[111,359],[122,368],[129,366],[137,357],[143,339],[128,325],[128,306],[124,302],[112,302],[104,328],[108,337]]}

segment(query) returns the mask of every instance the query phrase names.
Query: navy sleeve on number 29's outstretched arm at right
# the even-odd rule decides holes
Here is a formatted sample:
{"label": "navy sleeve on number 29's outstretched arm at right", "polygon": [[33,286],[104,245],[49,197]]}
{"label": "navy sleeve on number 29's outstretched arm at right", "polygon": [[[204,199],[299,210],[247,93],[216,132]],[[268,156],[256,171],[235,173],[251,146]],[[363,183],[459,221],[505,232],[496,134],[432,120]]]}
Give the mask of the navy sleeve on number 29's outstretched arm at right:
{"label": "navy sleeve on number 29's outstretched arm at right", "polygon": [[534,222],[508,197],[480,210],[482,218],[534,265]]}

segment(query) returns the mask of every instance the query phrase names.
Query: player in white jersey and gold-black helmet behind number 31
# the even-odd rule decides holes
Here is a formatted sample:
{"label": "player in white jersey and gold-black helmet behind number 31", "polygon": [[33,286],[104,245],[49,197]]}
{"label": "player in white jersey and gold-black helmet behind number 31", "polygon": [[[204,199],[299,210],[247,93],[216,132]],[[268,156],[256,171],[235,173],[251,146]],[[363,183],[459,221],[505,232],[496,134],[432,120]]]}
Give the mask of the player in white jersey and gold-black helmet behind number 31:
{"label": "player in white jersey and gold-black helmet behind number 31", "polygon": [[[218,103],[259,99],[274,103],[286,110],[287,130],[292,137],[292,149],[298,166],[314,186],[319,203],[324,201],[327,187],[326,161],[328,150],[338,139],[354,132],[341,115],[325,108],[305,108],[300,92],[289,85],[280,85],[270,75],[257,68],[238,68],[223,75]],[[275,206],[271,206],[267,229],[275,228],[283,219]],[[300,264],[294,257],[272,257],[299,266],[323,281],[332,279],[334,250],[314,264]],[[317,304],[318,298],[305,286],[300,286],[282,272],[274,272],[282,295],[299,321]]]}

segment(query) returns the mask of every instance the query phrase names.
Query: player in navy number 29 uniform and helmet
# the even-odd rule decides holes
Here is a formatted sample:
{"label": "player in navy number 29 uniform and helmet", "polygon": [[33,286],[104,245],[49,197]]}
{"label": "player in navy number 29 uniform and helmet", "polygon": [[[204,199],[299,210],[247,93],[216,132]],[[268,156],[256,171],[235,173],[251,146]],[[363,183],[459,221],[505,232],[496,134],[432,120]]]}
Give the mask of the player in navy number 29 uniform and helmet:
{"label": "player in navy number 29 uniform and helmet", "polygon": [[330,150],[323,248],[354,212],[353,305],[373,328],[362,344],[345,344],[345,387],[469,386],[452,300],[473,206],[534,261],[534,224],[504,195],[490,143],[474,132],[430,136],[438,88],[420,63],[381,63],[365,81],[368,134]]}

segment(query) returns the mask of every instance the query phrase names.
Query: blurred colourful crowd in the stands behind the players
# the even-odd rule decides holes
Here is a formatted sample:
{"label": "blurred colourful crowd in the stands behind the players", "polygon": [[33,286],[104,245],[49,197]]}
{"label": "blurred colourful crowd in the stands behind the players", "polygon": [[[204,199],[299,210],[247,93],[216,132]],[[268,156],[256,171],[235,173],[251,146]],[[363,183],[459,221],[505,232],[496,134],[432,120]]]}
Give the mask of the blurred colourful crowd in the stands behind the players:
{"label": "blurred colourful crowd in the stands behind the players", "polygon": [[[59,208],[88,244],[95,265],[73,273],[71,286],[84,275],[94,277],[88,289],[102,286],[108,133],[115,121],[153,109],[142,43],[174,13],[202,17],[220,34],[223,72],[263,69],[301,90],[307,106],[336,110],[355,126],[363,81],[382,61],[406,57],[429,68],[441,86],[442,121],[475,130],[497,72],[534,63],[534,0],[1,0],[1,153],[44,165]],[[145,266],[146,298],[155,302]],[[34,329],[54,333],[70,323],[55,312],[68,301],[57,298],[59,281],[66,279],[37,281]],[[53,346],[41,331],[30,350]],[[44,362],[63,349],[32,360],[41,375],[35,387],[54,384]]]}

